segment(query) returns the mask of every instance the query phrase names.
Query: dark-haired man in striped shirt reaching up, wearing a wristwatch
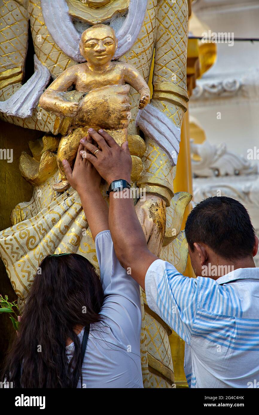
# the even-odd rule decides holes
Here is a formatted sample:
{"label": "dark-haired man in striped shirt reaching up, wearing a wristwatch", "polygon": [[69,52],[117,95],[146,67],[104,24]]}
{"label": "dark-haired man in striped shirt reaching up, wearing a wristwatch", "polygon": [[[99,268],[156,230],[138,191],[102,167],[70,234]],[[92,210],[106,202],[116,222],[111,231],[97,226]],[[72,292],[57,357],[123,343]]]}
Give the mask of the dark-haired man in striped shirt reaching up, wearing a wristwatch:
{"label": "dark-haired man in striped shirt reaching up, wearing a wristwatch", "polygon": [[[247,210],[227,197],[206,199],[192,210],[186,237],[197,278],[185,277],[148,250],[129,192],[128,144],[118,146],[103,130],[90,130],[81,143],[89,151],[84,156],[110,185],[109,225],[118,260],[146,291],[149,307],[185,341],[189,386],[257,387],[259,269],[253,256],[258,238]],[[76,178],[63,163],[73,186]]]}

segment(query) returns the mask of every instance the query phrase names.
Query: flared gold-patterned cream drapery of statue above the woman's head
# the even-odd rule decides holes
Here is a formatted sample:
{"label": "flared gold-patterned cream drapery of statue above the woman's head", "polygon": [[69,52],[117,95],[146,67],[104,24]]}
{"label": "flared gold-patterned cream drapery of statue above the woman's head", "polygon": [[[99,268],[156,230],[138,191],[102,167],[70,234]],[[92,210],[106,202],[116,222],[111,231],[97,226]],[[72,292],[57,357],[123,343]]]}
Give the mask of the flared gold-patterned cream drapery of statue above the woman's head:
{"label": "flared gold-patterned cream drapery of statue above the woman's head", "polygon": [[52,190],[56,179],[57,173],[35,188],[29,203],[17,205],[14,226],[1,232],[1,257],[20,299],[29,293],[40,262],[49,254],[78,253],[98,266],[79,195],[72,188],[57,195]]}

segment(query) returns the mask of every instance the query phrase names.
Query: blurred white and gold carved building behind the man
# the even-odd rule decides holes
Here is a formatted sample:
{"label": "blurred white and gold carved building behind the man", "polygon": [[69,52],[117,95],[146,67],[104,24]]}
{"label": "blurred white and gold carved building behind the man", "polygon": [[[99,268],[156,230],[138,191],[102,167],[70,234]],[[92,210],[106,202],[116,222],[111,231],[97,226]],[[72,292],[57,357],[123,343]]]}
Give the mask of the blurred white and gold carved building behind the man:
{"label": "blurred white and gold carved building behind the man", "polygon": [[[257,0],[192,3],[190,36],[211,32],[227,33],[230,38],[228,42],[214,44],[199,41],[201,76],[189,104],[194,202],[210,195],[228,195],[239,200],[249,210],[257,236],[258,21]],[[258,255],[256,263],[259,266]]]}

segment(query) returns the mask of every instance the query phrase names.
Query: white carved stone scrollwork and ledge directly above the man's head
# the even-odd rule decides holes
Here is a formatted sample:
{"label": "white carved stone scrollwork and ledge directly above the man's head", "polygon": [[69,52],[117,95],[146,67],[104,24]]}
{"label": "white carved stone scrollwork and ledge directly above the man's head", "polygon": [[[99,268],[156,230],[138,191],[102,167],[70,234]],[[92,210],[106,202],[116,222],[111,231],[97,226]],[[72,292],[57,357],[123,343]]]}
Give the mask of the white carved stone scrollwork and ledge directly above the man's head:
{"label": "white carved stone scrollwork and ledge directly above the man's head", "polygon": [[[239,200],[249,211],[252,224],[259,236],[259,173],[257,165],[252,166],[243,156],[227,151],[225,144],[213,146],[191,142],[193,203],[194,205],[210,196],[227,196]],[[259,266],[259,253],[254,258]]]}

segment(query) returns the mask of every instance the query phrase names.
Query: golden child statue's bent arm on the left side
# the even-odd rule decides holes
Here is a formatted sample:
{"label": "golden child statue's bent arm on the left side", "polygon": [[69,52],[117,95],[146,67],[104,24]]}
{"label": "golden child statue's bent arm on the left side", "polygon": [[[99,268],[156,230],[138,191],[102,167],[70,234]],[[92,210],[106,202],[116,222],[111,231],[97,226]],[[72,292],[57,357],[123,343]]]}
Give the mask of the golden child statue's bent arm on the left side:
{"label": "golden child statue's bent arm on the left side", "polygon": [[69,101],[65,96],[68,88],[76,83],[77,68],[72,66],[59,75],[39,99],[39,105],[44,110],[59,116],[72,117],[78,109],[78,102]]}

